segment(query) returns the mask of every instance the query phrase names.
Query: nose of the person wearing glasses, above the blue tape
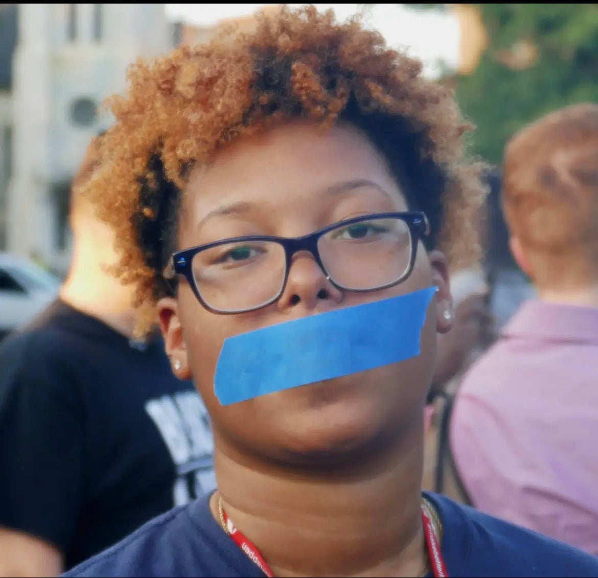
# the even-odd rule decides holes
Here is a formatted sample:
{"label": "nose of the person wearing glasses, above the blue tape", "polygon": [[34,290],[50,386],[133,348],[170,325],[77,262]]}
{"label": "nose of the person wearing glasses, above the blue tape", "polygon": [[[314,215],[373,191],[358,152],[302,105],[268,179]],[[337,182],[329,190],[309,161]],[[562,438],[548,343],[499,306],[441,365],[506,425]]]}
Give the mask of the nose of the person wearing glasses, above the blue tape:
{"label": "nose of the person wearing glasses, above the blue tape", "polygon": [[285,311],[303,305],[306,310],[313,310],[324,300],[340,303],[343,292],[332,285],[313,255],[295,253],[285,289],[278,300],[279,309]]}

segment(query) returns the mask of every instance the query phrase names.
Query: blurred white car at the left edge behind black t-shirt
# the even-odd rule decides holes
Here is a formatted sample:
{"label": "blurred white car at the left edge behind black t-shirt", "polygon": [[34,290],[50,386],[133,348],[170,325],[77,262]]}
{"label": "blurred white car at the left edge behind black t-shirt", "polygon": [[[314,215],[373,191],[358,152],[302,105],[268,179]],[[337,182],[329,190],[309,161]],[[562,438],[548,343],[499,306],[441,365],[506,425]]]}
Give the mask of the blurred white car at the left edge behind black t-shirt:
{"label": "blurred white car at the left edge behind black t-shirt", "polygon": [[0,340],[58,296],[60,279],[30,259],[0,251]]}

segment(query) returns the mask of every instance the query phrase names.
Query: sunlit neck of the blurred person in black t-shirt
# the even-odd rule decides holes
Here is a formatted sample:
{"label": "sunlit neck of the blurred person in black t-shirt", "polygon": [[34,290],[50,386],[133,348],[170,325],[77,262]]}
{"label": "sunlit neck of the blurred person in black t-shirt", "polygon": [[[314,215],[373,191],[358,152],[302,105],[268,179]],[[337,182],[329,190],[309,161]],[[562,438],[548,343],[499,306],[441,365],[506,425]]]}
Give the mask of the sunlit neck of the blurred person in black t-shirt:
{"label": "sunlit neck of the blurred person in black t-shirt", "polygon": [[60,298],[71,307],[96,317],[125,337],[132,337],[135,326],[132,296],[130,287],[121,285],[91,259],[74,259],[60,289]]}

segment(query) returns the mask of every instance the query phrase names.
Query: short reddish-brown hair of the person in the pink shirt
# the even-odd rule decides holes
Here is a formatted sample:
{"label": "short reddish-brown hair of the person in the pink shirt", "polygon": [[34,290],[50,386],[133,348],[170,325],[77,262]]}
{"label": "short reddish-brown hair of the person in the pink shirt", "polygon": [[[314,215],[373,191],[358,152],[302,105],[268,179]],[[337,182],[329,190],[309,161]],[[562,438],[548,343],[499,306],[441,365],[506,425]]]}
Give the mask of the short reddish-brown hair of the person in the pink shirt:
{"label": "short reddish-brown hair of the person in the pink shirt", "polygon": [[598,287],[598,104],[521,130],[505,149],[503,178],[511,247],[540,295]]}

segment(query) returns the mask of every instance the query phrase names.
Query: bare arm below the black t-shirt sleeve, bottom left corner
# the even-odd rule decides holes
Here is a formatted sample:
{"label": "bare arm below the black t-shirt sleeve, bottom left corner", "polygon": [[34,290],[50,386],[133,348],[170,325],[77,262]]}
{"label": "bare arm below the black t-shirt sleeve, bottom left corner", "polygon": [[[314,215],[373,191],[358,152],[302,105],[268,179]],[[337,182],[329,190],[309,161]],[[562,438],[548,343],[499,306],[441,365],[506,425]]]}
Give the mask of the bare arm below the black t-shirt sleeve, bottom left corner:
{"label": "bare arm below the black t-shirt sleeve, bottom left corner", "polygon": [[56,578],[63,573],[62,553],[48,542],[0,528],[0,578]]}

